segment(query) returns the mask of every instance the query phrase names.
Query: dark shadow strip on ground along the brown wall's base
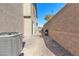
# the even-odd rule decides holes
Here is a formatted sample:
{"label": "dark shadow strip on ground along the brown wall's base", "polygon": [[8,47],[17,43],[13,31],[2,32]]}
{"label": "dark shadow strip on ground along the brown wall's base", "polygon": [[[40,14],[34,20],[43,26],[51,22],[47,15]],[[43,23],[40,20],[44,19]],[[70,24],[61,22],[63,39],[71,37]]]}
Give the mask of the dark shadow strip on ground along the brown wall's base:
{"label": "dark shadow strip on ground along the brown wall's base", "polygon": [[53,39],[50,39],[48,36],[44,36],[43,34],[41,36],[44,39],[46,47],[56,56],[73,56],[69,51],[65,50],[65,48],[63,48]]}

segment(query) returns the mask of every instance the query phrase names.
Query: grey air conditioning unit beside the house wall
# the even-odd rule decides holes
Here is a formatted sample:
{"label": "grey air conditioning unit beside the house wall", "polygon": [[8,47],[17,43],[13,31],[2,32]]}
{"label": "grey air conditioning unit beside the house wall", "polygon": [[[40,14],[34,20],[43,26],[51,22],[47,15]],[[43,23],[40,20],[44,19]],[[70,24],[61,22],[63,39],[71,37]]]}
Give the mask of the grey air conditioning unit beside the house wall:
{"label": "grey air conditioning unit beside the house wall", "polygon": [[0,56],[20,55],[22,43],[22,34],[18,32],[0,33]]}

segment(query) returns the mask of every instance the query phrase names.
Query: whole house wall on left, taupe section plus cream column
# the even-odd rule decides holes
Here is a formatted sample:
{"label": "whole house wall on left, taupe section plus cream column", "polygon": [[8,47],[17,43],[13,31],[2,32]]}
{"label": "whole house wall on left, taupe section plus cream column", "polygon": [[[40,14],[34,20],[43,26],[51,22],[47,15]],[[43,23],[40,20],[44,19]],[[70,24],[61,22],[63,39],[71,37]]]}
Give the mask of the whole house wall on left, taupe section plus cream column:
{"label": "whole house wall on left, taupe section plus cream column", "polygon": [[20,32],[24,36],[33,35],[36,10],[32,3],[1,3],[0,32]]}

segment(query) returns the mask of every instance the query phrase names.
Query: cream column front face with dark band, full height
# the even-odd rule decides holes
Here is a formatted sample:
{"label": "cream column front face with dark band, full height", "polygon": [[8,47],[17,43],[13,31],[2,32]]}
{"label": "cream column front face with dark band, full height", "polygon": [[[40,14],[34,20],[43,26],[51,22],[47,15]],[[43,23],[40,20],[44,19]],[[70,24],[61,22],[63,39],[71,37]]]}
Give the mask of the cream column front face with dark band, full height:
{"label": "cream column front face with dark band, full height", "polygon": [[32,9],[31,3],[23,4],[23,16],[24,18],[24,36],[32,36]]}

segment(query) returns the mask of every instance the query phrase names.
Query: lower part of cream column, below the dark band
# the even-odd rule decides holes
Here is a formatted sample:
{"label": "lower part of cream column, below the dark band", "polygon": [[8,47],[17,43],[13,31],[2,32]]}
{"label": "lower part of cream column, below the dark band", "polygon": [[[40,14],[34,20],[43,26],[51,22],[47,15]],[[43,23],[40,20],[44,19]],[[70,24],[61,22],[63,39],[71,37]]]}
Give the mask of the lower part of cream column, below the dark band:
{"label": "lower part of cream column, below the dark band", "polygon": [[31,20],[31,18],[24,19],[24,36],[25,37],[32,36],[32,20]]}

